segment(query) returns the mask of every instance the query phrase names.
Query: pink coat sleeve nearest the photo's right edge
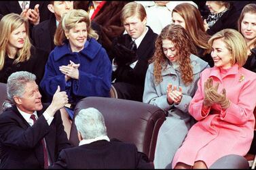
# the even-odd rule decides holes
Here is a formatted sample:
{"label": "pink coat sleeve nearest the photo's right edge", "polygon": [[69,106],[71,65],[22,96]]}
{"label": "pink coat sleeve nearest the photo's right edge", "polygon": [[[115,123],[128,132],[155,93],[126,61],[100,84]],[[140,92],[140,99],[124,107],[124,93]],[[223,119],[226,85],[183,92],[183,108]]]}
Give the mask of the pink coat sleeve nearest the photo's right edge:
{"label": "pink coat sleeve nearest the photo's right edge", "polygon": [[255,98],[256,79],[247,82],[242,89],[237,104],[230,101],[230,107],[221,110],[221,119],[236,125],[244,125],[251,119],[256,106]]}

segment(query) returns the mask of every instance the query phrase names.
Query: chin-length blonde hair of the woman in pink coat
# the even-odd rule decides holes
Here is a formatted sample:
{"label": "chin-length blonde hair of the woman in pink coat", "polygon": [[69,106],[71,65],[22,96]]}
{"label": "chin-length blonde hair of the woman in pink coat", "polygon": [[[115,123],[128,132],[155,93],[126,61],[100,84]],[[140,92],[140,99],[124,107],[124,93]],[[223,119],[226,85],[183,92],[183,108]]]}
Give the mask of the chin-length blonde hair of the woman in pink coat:
{"label": "chin-length blonde hair of the woman in pink coat", "polygon": [[209,45],[212,46],[216,39],[222,39],[232,54],[232,65],[238,64],[242,67],[245,64],[247,60],[246,42],[237,30],[230,28],[220,30],[209,39]]}

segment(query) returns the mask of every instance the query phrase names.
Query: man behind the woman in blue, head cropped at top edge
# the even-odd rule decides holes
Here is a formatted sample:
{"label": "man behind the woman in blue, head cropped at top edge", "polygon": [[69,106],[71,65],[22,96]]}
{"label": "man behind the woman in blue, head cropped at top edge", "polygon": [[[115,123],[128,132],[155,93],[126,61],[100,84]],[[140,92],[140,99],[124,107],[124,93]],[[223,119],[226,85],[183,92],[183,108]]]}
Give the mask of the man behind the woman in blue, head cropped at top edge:
{"label": "man behind the woman in blue, head cropped at top edge", "polygon": [[[54,49],[54,34],[61,20],[62,14],[73,9],[73,1],[50,1],[48,9],[52,13],[49,20],[45,20],[33,28],[33,45],[47,51],[49,54]],[[98,34],[98,43],[101,43],[100,27],[92,22],[92,29]]]}

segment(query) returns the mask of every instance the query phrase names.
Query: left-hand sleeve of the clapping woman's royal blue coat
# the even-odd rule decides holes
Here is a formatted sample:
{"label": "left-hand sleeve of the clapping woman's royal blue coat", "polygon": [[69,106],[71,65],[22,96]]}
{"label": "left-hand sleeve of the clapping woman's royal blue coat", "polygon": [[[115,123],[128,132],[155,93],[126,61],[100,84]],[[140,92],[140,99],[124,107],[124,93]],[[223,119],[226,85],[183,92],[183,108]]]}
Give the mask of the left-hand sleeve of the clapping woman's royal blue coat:
{"label": "left-hand sleeve of the clapping woman's royal blue coat", "polygon": [[43,91],[45,91],[45,93],[50,95],[51,98],[54,95],[58,85],[60,86],[60,91],[65,91],[65,87],[67,86],[65,75],[60,74],[60,70],[56,70],[56,62],[54,62],[53,55],[54,53],[52,51],[45,65],[45,72],[40,83],[40,87],[43,89]]}

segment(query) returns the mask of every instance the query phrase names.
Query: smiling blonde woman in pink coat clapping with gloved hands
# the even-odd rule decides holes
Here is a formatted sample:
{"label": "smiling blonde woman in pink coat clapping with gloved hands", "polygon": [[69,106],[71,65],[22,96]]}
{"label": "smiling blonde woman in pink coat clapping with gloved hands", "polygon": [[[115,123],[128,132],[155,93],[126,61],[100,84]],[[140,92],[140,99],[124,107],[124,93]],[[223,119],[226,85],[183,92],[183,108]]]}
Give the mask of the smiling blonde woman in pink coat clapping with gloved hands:
{"label": "smiling blonde woman in pink coat clapping with gloved hands", "polygon": [[213,68],[206,68],[189,104],[198,121],[187,133],[172,161],[174,168],[208,168],[228,154],[244,156],[251,146],[256,106],[256,74],[242,68],[246,43],[233,29],[213,35]]}

